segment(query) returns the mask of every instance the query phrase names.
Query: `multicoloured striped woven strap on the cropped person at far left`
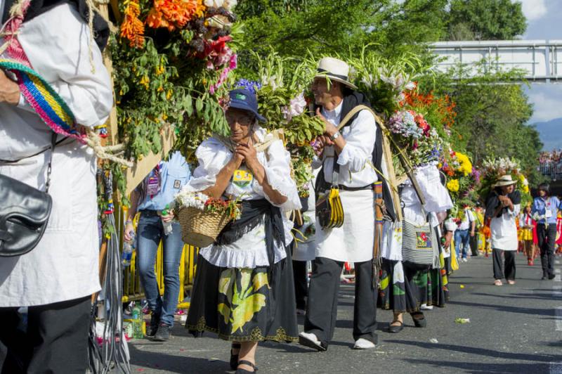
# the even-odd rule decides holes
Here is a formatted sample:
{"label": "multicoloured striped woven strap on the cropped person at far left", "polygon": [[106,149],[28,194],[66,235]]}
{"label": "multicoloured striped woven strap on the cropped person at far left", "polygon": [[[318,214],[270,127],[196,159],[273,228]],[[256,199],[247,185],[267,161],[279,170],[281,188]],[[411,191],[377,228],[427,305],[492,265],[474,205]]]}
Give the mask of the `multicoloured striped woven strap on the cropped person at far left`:
{"label": "multicoloured striped woven strap on the cropped person at far left", "polygon": [[48,127],[57,134],[83,140],[84,135],[77,131],[72,110],[37,72],[22,63],[6,59],[0,59],[0,68],[13,72],[18,78],[23,97]]}

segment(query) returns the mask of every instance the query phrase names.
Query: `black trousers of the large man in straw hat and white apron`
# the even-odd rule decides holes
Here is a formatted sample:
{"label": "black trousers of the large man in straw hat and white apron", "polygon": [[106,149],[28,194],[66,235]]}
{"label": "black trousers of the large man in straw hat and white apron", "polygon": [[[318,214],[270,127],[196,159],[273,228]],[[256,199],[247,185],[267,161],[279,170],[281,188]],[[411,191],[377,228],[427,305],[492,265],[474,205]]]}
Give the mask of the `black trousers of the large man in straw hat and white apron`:
{"label": "black trousers of the large man in straw hat and white apron", "polygon": [[[304,320],[306,333],[313,333],[326,345],[334,336],[338,310],[338,290],[344,262],[316,257],[308,290]],[[353,339],[377,344],[377,289],[372,285],[372,262],[355,262],[355,304]]]}

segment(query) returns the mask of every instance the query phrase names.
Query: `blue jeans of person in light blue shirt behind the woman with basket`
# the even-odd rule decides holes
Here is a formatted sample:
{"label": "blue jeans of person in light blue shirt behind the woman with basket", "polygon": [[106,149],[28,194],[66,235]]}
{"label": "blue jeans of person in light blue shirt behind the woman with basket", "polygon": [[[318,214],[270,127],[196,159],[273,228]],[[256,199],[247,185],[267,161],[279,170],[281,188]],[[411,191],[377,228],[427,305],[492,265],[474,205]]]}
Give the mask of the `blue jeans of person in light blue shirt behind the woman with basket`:
{"label": "blue jeans of person in light blue shirt behind the woman with basket", "polygon": [[[178,222],[174,222],[172,225],[174,229],[166,236],[160,217],[153,214],[152,211],[141,212],[136,247],[138,273],[141,276],[148,307],[152,313],[160,316],[161,323],[169,326],[174,325],[174,314],[178,305],[179,266],[183,251],[181,226]],[[160,296],[154,269],[160,240],[162,240],[164,252],[164,298]]]}

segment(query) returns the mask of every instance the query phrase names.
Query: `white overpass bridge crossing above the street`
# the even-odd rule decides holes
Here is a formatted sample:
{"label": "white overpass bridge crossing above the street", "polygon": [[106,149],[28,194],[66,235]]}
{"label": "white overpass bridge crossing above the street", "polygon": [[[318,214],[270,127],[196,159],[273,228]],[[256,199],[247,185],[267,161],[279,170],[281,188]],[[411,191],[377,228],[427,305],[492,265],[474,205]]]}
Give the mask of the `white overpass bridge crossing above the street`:
{"label": "white overpass bridge crossing above the street", "polygon": [[562,40],[439,41],[430,46],[443,72],[460,63],[476,73],[484,61],[490,70],[523,70],[530,83],[562,83]]}

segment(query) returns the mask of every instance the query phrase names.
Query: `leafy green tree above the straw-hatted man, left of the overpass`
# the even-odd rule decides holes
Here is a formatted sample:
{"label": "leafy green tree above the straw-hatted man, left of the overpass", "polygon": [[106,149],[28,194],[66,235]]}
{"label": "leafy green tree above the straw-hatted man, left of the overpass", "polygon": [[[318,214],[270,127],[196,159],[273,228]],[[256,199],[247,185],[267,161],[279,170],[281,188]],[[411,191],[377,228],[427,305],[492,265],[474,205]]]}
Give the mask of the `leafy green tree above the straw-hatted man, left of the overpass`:
{"label": "leafy green tree above the straw-hatted man, left of the overpass", "polygon": [[446,33],[447,0],[240,0],[244,41],[263,55],[359,53],[377,44],[388,56],[426,51]]}

